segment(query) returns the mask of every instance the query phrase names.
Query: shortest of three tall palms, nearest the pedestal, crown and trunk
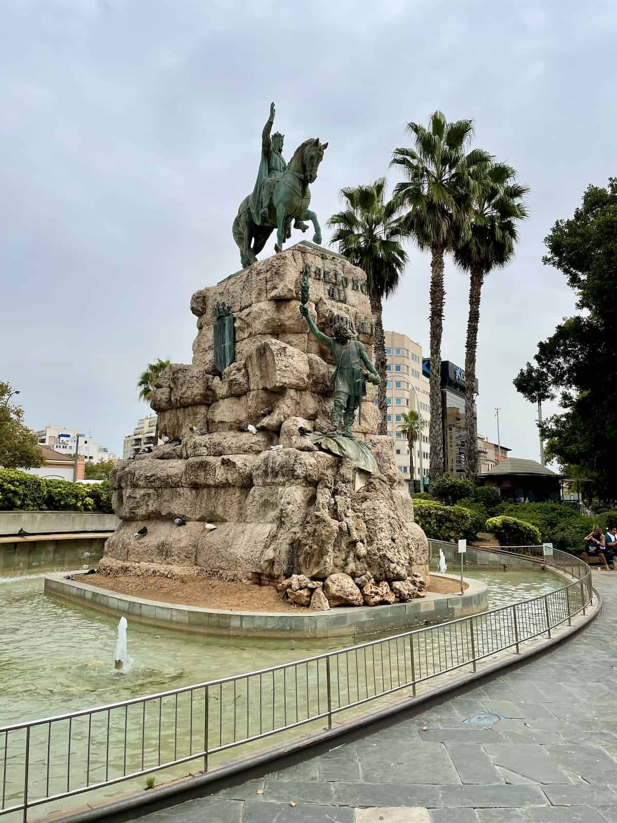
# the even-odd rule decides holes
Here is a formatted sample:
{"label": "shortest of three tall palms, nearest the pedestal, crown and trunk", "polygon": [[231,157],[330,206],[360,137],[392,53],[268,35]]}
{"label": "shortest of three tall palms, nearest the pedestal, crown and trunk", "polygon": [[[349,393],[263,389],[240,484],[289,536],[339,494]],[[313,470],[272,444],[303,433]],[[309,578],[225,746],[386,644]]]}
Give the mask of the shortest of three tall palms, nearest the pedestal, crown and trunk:
{"label": "shortest of three tall palms, nearest the pedestal, crown and trunk", "polygon": [[378,408],[381,415],[378,434],[387,434],[386,339],[383,334],[383,300],[397,290],[407,253],[399,240],[405,236],[395,200],[385,200],[386,179],[379,178],[368,186],[341,188],[344,212],[333,214],[327,225],[334,229],[331,244],[350,263],[366,273],[371,311],[375,319],[375,368],[381,383]]}

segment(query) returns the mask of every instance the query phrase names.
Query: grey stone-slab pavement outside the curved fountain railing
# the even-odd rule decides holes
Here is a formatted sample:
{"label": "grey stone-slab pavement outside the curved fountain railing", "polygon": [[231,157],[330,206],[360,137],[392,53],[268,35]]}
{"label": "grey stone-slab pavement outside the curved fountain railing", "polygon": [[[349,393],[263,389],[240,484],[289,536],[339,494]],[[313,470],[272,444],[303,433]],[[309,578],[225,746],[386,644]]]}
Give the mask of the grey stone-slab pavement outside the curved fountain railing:
{"label": "grey stone-slab pavement outside the curved fountain railing", "polygon": [[[330,751],[124,819],[617,823],[617,572],[593,576],[600,619],[550,653]],[[479,712],[504,719],[463,723]]]}

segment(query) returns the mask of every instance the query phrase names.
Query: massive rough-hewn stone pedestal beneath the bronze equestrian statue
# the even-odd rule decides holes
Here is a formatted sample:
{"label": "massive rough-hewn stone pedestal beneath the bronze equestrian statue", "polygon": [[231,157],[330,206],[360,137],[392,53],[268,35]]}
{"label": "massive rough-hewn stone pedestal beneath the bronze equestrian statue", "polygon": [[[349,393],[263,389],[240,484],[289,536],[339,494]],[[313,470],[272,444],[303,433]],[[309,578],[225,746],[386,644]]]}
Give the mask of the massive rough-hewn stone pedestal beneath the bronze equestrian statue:
{"label": "massive rough-hewn stone pedestal beneath the bronze equestrian statue", "polygon": [[[326,431],[332,407],[327,351],[299,314],[303,271],[319,327],[345,318],[370,351],[364,272],[310,244],[197,291],[193,365],[170,365],[151,404],[160,434],[182,442],[114,467],[122,522],[105,545],[101,571],[138,573],[156,564],[163,572],[191,567],[209,577],[259,580],[427,573],[426,537],[414,523],[392,439],[374,435],[377,389],[368,386],[354,433],[374,441],[378,472],[362,471],[299,434]],[[234,360],[225,367],[230,353]],[[208,433],[197,434],[200,428]],[[185,526],[173,523],[178,515]],[[135,537],[144,525],[146,535]]]}

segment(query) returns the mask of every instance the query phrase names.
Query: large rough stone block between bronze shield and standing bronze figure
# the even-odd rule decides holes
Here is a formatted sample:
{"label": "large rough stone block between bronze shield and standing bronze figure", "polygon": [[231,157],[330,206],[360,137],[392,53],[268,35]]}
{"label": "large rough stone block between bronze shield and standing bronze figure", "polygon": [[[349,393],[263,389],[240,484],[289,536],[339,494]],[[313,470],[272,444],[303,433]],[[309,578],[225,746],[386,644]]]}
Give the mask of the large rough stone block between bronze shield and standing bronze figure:
{"label": "large rough stone block between bronze shield and standing bronze figure", "polygon": [[288,388],[308,388],[308,358],[294,346],[268,340],[247,358],[251,391],[282,392]]}

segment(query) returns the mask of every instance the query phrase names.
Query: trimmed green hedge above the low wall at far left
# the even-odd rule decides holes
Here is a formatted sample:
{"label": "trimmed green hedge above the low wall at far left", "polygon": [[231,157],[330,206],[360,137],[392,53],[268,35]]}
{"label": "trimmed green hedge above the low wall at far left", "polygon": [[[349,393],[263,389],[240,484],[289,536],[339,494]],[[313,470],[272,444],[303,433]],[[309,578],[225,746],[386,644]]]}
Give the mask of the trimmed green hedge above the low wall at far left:
{"label": "trimmed green hedge above the low wall at far left", "polygon": [[17,469],[0,468],[0,510],[114,511],[109,483],[71,483],[44,480]]}

